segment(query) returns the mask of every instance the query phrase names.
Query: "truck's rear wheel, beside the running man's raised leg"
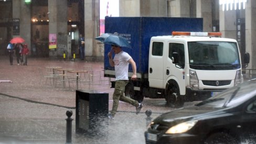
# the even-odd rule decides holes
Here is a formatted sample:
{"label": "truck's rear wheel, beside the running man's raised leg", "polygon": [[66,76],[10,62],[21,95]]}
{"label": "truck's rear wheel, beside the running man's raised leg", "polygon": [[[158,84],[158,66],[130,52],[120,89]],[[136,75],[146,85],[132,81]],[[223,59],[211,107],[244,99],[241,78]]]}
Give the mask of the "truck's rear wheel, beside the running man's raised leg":
{"label": "truck's rear wheel, beside the running man's raised leg", "polygon": [[131,82],[127,83],[125,86],[124,95],[138,102],[142,102],[144,99],[143,94],[140,91],[134,90],[133,83]]}

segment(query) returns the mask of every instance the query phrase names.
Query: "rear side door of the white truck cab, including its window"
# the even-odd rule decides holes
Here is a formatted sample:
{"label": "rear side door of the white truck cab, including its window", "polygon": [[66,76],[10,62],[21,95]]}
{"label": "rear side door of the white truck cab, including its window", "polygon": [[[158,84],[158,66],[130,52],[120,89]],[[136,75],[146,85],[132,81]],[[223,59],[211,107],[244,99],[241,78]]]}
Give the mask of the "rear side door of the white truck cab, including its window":
{"label": "rear side door of the white truck cab, including its window", "polygon": [[150,44],[150,53],[148,57],[148,81],[152,88],[165,88],[163,86],[165,55],[164,42],[153,41]]}

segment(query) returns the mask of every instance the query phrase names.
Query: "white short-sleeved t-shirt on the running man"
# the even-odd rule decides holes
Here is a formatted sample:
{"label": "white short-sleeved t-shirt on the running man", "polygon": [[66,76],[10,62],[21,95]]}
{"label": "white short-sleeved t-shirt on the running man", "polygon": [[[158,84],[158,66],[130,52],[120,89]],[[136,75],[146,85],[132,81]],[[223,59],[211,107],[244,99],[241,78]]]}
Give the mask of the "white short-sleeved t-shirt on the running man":
{"label": "white short-sleeved t-shirt on the running man", "polygon": [[132,58],[128,53],[121,51],[114,56],[115,80],[128,80],[129,59]]}

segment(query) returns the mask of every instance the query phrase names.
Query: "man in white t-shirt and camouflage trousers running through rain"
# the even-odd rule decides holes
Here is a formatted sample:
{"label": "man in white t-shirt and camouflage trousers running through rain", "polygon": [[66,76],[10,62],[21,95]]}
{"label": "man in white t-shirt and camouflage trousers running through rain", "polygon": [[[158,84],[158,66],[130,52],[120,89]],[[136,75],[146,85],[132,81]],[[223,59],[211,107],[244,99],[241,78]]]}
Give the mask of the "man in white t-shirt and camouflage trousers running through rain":
{"label": "man in white t-shirt and camouflage trousers running through rain", "polygon": [[[136,76],[136,63],[133,61],[132,57],[122,51],[120,46],[111,45],[111,52],[108,53],[109,56],[109,64],[112,67],[115,67],[115,90],[113,93],[113,107],[112,111],[109,114],[109,119],[114,119],[115,113],[118,110],[119,100],[123,102],[127,102],[136,107],[136,114],[140,113],[142,109],[142,104],[137,101],[125,97],[124,88],[129,82],[128,78],[128,68],[129,64],[132,65],[133,75],[132,80],[137,78]],[[112,59],[112,52],[115,53],[114,58]]]}

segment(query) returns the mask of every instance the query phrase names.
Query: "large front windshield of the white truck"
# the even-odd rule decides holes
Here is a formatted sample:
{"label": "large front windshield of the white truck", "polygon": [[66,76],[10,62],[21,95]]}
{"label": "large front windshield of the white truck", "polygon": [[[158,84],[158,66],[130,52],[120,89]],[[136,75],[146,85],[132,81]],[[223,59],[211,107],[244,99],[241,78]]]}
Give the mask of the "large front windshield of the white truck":
{"label": "large front windshield of the white truck", "polygon": [[188,42],[189,66],[193,69],[240,68],[237,43],[223,41]]}

